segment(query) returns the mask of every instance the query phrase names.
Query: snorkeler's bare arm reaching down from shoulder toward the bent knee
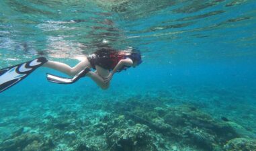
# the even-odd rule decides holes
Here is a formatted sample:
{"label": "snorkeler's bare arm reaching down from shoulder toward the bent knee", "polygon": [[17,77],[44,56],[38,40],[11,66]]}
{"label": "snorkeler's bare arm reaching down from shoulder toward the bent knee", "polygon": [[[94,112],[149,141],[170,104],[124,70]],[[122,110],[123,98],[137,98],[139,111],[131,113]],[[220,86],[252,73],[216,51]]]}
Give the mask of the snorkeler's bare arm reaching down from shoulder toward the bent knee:
{"label": "snorkeler's bare arm reaching down from shoulder toward the bent knee", "polygon": [[118,62],[118,64],[116,64],[115,68],[112,70],[112,72],[110,72],[110,75],[108,75],[107,78],[104,79],[104,82],[105,83],[108,83],[113,75],[120,69],[122,68],[123,66],[132,66],[133,62],[132,62],[132,59],[130,58],[126,58],[126,59],[122,59]]}

